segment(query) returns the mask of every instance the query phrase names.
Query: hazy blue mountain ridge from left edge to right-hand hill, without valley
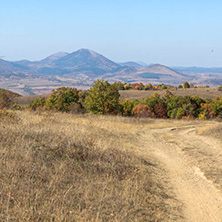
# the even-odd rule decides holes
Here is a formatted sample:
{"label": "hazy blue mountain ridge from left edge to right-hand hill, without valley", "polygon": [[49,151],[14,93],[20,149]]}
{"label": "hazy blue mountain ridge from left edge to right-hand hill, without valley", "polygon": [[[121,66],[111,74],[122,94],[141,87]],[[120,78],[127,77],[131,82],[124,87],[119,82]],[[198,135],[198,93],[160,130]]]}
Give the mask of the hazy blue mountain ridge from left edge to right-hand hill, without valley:
{"label": "hazy blue mountain ridge from left edge to right-hand hill, without valley", "polygon": [[152,72],[181,77],[180,73],[175,72],[167,66],[160,64],[143,66],[133,61],[118,64],[93,50],[85,48],[72,53],[57,52],[40,61],[20,60],[5,62],[5,65],[2,66],[0,63],[1,70],[7,67],[6,71],[22,72],[25,74],[72,75],[72,77],[84,74],[89,78],[95,78],[106,74],[118,76],[121,73],[134,75],[141,74],[141,72]]}

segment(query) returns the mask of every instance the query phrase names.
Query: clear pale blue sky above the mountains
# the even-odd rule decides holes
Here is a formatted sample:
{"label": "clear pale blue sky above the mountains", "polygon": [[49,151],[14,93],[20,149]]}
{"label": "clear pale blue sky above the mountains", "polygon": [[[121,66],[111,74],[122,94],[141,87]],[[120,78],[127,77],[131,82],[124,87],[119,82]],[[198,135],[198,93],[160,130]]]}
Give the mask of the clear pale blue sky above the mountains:
{"label": "clear pale blue sky above the mountains", "polygon": [[221,0],[0,0],[0,56],[94,50],[115,62],[222,67]]}

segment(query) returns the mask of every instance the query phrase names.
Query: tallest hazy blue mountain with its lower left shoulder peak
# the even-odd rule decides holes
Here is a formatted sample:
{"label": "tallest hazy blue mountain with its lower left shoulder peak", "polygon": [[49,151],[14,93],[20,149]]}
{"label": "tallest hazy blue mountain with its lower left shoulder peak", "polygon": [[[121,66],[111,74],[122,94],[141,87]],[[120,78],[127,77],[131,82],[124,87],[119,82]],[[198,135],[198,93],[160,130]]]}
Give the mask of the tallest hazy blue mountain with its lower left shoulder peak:
{"label": "tallest hazy blue mountain with its lower left shoulder peak", "polygon": [[41,61],[22,60],[16,64],[26,65],[32,74],[86,74],[89,77],[114,72],[121,68],[119,64],[89,49],[80,49],[73,53],[58,52]]}

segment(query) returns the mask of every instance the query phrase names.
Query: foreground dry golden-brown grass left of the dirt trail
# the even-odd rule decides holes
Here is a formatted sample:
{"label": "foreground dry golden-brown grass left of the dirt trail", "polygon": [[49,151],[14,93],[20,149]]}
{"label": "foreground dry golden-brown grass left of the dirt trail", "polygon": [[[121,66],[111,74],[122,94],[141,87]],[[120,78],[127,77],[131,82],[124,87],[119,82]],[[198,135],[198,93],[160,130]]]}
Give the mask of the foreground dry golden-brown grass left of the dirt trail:
{"label": "foreground dry golden-brown grass left of the dirt trail", "polygon": [[61,113],[1,119],[0,221],[178,221],[164,170],[136,151],[148,124]]}

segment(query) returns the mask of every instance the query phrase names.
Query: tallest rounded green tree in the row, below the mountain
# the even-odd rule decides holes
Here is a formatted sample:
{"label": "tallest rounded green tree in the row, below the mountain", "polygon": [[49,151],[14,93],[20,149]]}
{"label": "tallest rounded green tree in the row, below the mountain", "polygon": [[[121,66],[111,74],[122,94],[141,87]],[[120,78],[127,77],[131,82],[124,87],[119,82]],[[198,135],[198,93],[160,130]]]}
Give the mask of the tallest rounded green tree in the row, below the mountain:
{"label": "tallest rounded green tree in the row, below the mountain", "polygon": [[94,82],[88,91],[85,107],[94,114],[115,114],[120,110],[118,89],[103,79]]}

